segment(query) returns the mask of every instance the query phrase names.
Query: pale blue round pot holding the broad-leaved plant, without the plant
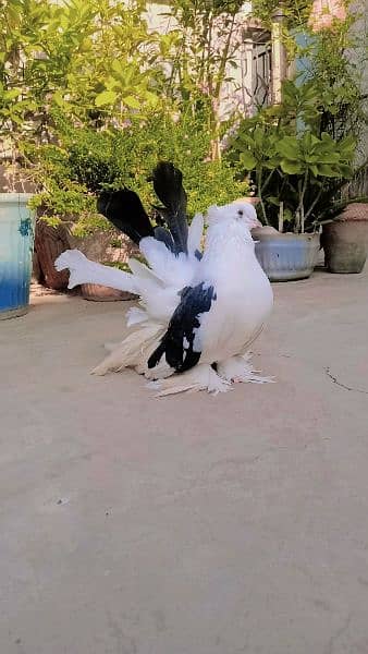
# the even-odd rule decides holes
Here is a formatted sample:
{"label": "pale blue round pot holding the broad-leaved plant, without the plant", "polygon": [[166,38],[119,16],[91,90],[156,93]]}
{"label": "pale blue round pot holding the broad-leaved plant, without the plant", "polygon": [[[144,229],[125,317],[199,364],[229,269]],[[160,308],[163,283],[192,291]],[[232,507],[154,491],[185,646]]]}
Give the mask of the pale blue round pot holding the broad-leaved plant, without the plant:
{"label": "pale blue round pot holding the broad-leaved plant, without the plant", "polygon": [[319,234],[280,233],[271,227],[253,230],[256,256],[270,281],[307,279],[317,265]]}

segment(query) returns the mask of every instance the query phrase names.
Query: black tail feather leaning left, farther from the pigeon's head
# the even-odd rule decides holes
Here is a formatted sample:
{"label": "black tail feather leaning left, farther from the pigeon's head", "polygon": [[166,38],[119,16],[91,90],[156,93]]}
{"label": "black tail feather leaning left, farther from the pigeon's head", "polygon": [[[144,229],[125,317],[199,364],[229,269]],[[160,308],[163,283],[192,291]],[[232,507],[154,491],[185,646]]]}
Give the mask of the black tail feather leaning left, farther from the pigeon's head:
{"label": "black tail feather leaning left, farther from the pigeon's head", "polygon": [[97,210],[137,245],[140,239],[155,235],[138,195],[130,189],[102,191],[97,199]]}

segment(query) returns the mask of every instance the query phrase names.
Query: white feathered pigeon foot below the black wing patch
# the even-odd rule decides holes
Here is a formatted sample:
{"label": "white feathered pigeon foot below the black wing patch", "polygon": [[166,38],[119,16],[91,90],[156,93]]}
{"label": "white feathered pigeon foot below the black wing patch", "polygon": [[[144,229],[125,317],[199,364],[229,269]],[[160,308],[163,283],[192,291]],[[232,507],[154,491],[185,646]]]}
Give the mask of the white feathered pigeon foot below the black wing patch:
{"label": "white feathered pigeon foot below the black wing patch", "polygon": [[218,392],[231,390],[230,382],[221,379],[207,363],[197,364],[191,371],[173,375],[169,379],[150,382],[147,386],[159,390],[156,395],[157,398],[186,391],[207,390],[211,395],[218,395]]}

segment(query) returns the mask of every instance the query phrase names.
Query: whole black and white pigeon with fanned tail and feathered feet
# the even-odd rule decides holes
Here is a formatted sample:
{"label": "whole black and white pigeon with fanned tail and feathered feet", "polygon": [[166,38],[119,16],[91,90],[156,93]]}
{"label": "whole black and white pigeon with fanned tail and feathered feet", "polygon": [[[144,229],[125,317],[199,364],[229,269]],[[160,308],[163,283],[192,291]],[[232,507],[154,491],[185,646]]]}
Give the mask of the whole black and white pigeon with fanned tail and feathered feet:
{"label": "whole black and white pigeon with fanned tail and feathered feet", "polygon": [[[182,173],[160,162],[152,173],[162,206],[154,227],[131,190],[103,192],[98,209],[139,245],[147,265],[130,259],[131,272],[88,261],[68,250],[56,262],[69,268],[69,288],[98,283],[139,295],[127,314],[130,331],[110,348],[95,374],[132,367],[159,396],[206,389],[218,393],[232,382],[270,382],[250,365],[249,347],[272,308],[270,282],[255,255],[250,230],[259,226],[246,199],[197,214],[188,227]],[[203,243],[204,247],[203,247]]]}

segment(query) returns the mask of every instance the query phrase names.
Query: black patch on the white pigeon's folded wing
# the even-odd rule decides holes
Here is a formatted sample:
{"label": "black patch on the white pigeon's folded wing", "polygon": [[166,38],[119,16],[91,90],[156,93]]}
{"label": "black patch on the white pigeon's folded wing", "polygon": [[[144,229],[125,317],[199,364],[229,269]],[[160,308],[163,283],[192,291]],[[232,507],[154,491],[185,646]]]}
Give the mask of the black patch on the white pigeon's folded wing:
{"label": "black patch on the white pigeon's folded wing", "polygon": [[181,296],[181,303],[171,317],[165,335],[148,360],[149,368],[154,368],[163,354],[176,373],[188,371],[200,359],[201,352],[193,350],[195,329],[200,326],[198,316],[211,308],[217,296],[213,287],[205,288],[204,282],[196,287],[185,287]]}

